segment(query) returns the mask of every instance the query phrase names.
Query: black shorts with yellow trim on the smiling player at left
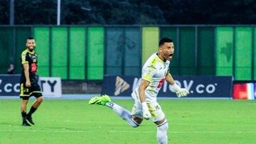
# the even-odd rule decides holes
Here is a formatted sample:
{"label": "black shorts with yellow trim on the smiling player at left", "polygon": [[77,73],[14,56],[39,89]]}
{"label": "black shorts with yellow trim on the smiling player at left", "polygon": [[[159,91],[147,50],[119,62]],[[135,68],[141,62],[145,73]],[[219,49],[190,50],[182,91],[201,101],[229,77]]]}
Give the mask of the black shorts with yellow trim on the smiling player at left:
{"label": "black shorts with yellow trim on the smiling player at left", "polygon": [[31,87],[26,87],[26,82],[21,81],[20,85],[20,98],[29,99],[30,96],[35,96],[36,98],[43,96],[41,87],[36,82],[31,82]]}

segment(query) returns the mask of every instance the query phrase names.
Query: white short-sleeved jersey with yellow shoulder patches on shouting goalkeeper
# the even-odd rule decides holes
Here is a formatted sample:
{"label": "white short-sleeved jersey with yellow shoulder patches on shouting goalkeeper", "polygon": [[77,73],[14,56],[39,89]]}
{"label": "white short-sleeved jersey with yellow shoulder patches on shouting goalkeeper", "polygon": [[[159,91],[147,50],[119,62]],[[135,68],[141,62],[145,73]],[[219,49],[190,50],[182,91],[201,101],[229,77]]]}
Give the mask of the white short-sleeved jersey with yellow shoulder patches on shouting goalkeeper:
{"label": "white short-sleeved jersey with yellow shoulder patches on shouting goalkeeper", "polygon": [[[144,66],[142,67],[142,79],[150,82],[149,87],[146,88],[145,96],[146,102],[156,101],[156,96],[161,89],[162,84],[167,72],[169,72],[170,61],[166,60],[164,62],[159,58],[157,53],[154,53],[146,60]],[[139,100],[139,87],[137,87],[132,93],[132,97]]]}

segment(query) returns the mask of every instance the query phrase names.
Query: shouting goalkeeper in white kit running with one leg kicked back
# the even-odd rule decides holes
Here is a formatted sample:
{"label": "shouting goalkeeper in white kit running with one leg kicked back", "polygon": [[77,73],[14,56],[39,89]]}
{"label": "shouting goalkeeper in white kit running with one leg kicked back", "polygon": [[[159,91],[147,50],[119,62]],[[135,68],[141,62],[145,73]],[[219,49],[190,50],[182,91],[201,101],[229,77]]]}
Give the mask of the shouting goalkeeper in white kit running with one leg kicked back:
{"label": "shouting goalkeeper in white kit running with one leg kicked back", "polygon": [[168,122],[165,118],[161,106],[156,101],[156,96],[161,89],[164,80],[174,88],[178,97],[187,96],[187,89],[181,89],[171,74],[169,73],[169,64],[174,55],[174,42],[169,38],[162,38],[159,41],[159,51],[151,55],[142,68],[142,82],[134,92],[134,106],[132,113],[122,108],[118,104],[111,102],[110,96],[95,96],[90,99],[89,104],[100,104],[110,107],[130,126],[138,127],[143,119],[150,119],[156,123],[156,137],[159,143],[168,143],[167,130]]}

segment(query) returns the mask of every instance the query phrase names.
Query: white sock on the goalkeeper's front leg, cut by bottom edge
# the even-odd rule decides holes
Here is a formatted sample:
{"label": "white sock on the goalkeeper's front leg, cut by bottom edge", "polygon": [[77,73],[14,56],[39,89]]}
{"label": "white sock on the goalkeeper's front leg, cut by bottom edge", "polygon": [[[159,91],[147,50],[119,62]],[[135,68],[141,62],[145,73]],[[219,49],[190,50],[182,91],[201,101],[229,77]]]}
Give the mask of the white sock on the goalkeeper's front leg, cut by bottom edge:
{"label": "white sock on the goalkeeper's front leg, cut by bottom edge", "polygon": [[156,138],[159,141],[159,144],[168,143],[168,137],[167,137],[168,127],[169,126],[167,121],[164,121],[164,123],[157,125]]}

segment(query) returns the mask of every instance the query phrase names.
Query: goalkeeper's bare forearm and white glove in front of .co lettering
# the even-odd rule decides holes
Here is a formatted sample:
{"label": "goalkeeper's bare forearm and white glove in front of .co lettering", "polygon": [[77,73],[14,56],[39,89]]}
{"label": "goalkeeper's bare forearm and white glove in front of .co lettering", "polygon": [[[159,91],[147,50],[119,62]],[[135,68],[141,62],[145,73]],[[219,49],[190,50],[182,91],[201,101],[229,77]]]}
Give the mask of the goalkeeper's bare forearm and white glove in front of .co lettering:
{"label": "goalkeeper's bare forearm and white glove in front of .co lettering", "polygon": [[166,74],[166,81],[171,84],[178,97],[187,96],[189,94],[188,89],[181,88],[175,83],[174,78],[171,77],[169,72]]}

